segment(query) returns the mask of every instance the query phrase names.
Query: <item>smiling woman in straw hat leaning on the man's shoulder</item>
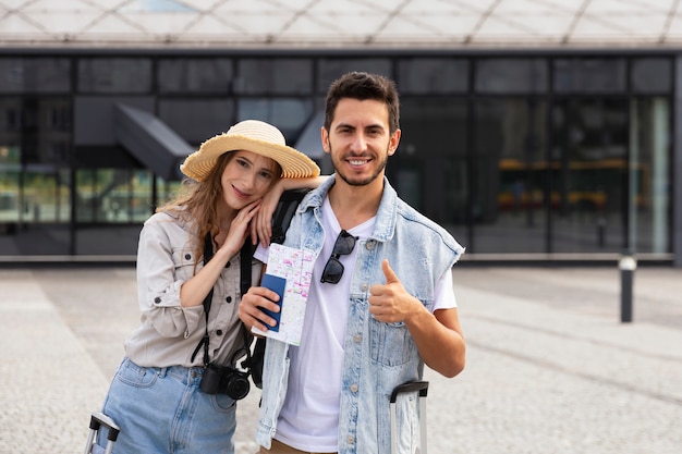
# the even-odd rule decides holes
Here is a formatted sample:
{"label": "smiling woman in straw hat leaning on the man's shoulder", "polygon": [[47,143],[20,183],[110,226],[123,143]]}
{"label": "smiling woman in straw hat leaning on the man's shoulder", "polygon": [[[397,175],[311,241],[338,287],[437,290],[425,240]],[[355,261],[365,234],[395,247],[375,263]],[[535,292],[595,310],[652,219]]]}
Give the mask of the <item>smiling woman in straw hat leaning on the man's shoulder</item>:
{"label": "smiling woman in straw hat leaning on the man's shoulder", "polygon": [[[271,207],[284,189],[316,186],[319,174],[279,130],[255,120],[205,142],[181,170],[192,181],[139,235],[142,324],[125,342],[103,403],[121,428],[117,454],[234,452],[236,400],[243,397],[235,394],[243,389],[233,372],[251,341],[238,316],[240,250],[256,243],[249,224],[266,195]],[[252,263],[255,284],[260,269]],[[202,385],[209,373],[218,381]],[[217,385],[235,377],[236,392]]]}

